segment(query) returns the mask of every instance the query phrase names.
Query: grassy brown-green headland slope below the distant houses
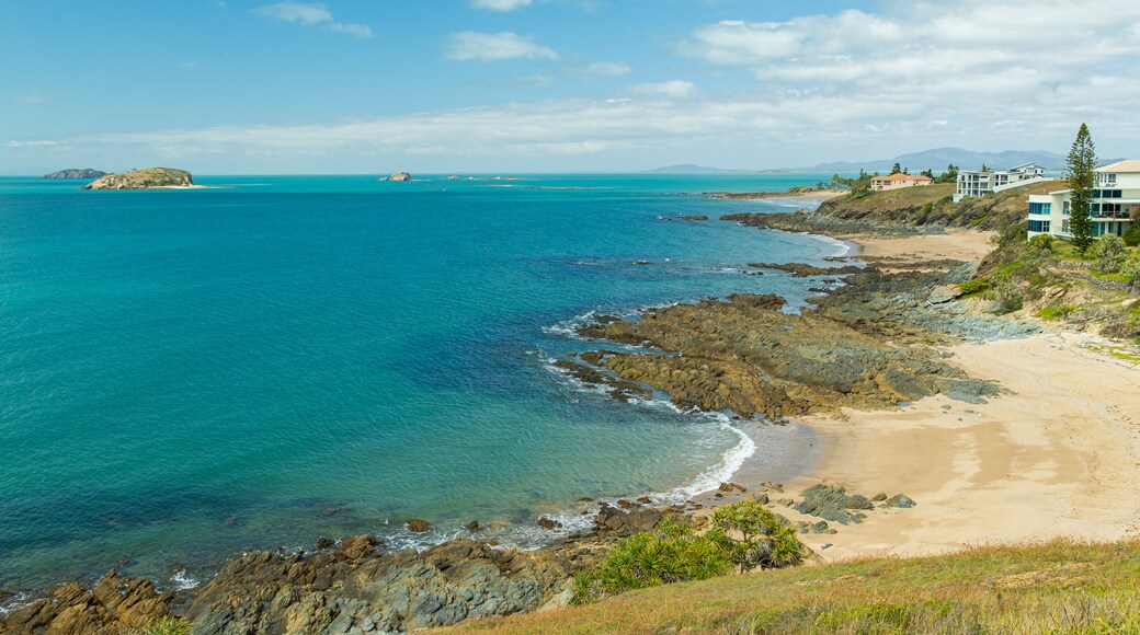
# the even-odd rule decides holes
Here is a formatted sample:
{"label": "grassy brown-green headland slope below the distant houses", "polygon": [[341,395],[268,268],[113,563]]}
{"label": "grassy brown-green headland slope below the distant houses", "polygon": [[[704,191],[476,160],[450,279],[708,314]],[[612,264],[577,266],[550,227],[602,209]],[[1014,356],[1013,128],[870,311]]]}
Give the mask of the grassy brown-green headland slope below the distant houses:
{"label": "grassy brown-green headland slope below the distant houses", "polygon": [[885,225],[976,228],[995,230],[1025,220],[1026,197],[1066,188],[1064,181],[1043,181],[1023,188],[967,198],[953,203],[954,183],[872,192],[863,198],[833,198],[820,205],[819,213],[842,221],[873,222]]}

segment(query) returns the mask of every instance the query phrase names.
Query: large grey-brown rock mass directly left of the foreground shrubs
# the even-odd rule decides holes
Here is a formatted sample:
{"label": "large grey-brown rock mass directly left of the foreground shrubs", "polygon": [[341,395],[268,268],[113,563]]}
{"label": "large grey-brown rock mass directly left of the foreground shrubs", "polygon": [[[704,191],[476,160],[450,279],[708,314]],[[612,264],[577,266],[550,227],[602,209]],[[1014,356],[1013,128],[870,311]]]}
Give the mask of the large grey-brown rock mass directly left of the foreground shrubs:
{"label": "large grey-brown rock mass directly left of the foreground shrubs", "polygon": [[[201,587],[186,618],[196,635],[448,626],[538,609],[569,588],[578,568],[596,562],[581,560],[584,549],[502,551],[456,539],[423,553],[254,553]],[[356,558],[337,556],[349,552]]]}

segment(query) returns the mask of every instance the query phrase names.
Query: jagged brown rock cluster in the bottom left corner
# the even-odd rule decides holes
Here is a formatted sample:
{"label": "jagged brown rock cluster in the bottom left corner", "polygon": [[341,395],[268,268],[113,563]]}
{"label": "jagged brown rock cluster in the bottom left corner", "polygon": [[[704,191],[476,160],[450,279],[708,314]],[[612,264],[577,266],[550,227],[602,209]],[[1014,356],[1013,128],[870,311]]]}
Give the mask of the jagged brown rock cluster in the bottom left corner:
{"label": "jagged brown rock cluster in the bottom left corner", "polygon": [[120,577],[114,570],[91,591],[71,583],[49,595],[0,618],[0,633],[137,633],[165,616],[172,597],[149,580]]}

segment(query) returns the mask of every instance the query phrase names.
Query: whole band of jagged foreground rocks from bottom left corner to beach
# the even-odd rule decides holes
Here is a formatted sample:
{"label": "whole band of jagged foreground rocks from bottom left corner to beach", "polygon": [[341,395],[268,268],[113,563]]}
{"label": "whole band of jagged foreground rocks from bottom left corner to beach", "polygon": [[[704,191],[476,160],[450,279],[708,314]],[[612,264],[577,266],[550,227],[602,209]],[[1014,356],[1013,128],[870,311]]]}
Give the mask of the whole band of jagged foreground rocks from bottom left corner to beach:
{"label": "whole band of jagged foreground rocks from bottom left corner to beach", "polygon": [[406,632],[564,605],[578,571],[594,567],[618,538],[663,518],[640,503],[627,506],[602,505],[593,531],[527,552],[473,539],[389,551],[363,535],[321,539],[310,553],[251,553],[177,597],[112,571],[91,591],[78,584],[51,589],[0,619],[0,633],[137,633],[169,612],[189,621],[195,635]]}

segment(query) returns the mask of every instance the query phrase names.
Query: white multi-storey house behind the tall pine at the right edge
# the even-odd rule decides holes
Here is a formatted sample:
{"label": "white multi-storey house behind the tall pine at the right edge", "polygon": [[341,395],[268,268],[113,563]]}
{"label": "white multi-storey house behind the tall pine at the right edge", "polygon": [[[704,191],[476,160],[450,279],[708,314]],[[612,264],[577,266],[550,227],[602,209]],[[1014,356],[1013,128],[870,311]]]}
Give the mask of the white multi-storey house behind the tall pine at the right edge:
{"label": "white multi-storey house behind the tall pine at the right edge", "polygon": [[[1092,236],[1124,236],[1140,213],[1140,159],[1122,160],[1098,167],[1096,172],[1096,189],[1089,204]],[[1073,238],[1069,206],[1069,190],[1031,195],[1029,238],[1044,233]]]}

